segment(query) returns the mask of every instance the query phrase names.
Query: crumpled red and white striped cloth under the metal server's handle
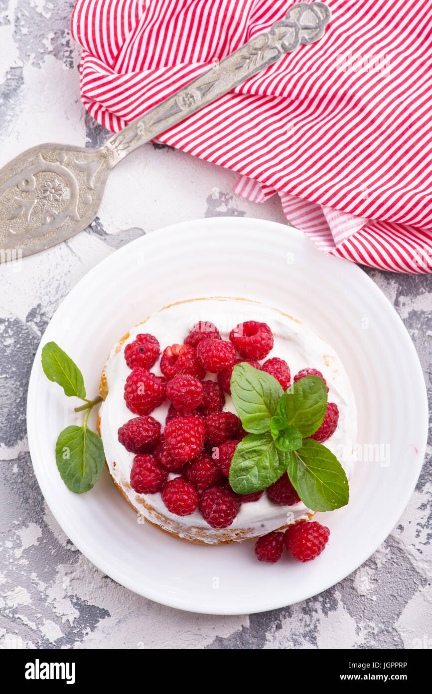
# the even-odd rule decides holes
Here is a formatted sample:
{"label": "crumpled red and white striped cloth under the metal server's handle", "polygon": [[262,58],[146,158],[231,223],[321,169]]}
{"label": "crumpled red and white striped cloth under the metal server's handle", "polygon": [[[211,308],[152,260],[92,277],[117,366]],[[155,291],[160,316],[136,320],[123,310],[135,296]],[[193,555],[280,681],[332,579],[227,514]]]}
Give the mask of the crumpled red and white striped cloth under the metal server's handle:
{"label": "crumpled red and white striped cloth under the metal server's handle", "polygon": [[[282,19],[292,0],[78,0],[82,101],[117,132]],[[325,37],[159,140],[280,195],[323,251],[432,271],[432,1],[327,0]]]}

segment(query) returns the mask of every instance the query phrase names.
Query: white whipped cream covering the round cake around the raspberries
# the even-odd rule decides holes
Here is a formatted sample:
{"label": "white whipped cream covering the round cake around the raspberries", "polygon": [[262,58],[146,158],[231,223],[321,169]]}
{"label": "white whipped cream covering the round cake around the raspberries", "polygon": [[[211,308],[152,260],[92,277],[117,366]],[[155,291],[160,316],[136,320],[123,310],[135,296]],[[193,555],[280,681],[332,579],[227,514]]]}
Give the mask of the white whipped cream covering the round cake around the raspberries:
{"label": "white whipped cream covering the round cake around the raspberries", "polygon": [[[132,506],[152,523],[165,527],[165,530],[172,530],[172,526],[175,525],[177,534],[181,534],[186,539],[194,539],[195,536],[199,536],[201,541],[215,543],[218,541],[217,536],[221,531],[210,528],[199,510],[190,516],[174,516],[163,505],[161,493],[137,494],[129,484],[134,453],[128,452],[119,443],[117,435],[118,428],[136,416],[127,409],[123,397],[126,378],[130,373],[124,357],[125,346],[134,341],[138,333],[150,332],[159,340],[162,351],[168,345],[183,343],[197,321],[215,323],[219,328],[221,337],[228,339],[230,330],[237,323],[249,320],[261,321],[270,326],[274,336],[274,346],[266,359],[271,357],[285,359],[291,369],[291,378],[306,366],[318,369],[323,373],[330,388],[328,398],[330,402],[336,403],[339,407],[338,428],[333,436],[325,441],[325,446],[340,459],[348,479],[352,474],[354,455],[349,453],[347,455],[346,450],[347,446],[348,450],[354,446],[357,435],[357,411],[354,394],[339,357],[323,338],[318,337],[303,323],[282,314],[278,310],[244,299],[195,299],[165,307],[133,328],[121,347],[116,344],[111,350],[105,366],[108,395],[100,406],[100,434],[111,476],[123,489]],[[161,375],[159,361],[152,367],[152,371]],[[215,374],[208,373],[206,375],[206,379],[215,380],[215,378]],[[235,413],[231,396],[225,393],[225,398],[224,409]],[[169,405],[167,400],[151,413],[161,423],[162,428],[165,424]],[[345,451],[343,459],[341,459],[341,450]],[[174,476],[170,474],[170,478]],[[308,511],[309,513],[312,512],[305,507],[303,502],[292,507],[277,506],[269,501],[267,494],[264,493],[259,501],[242,504],[237,518],[232,525],[226,528],[226,531],[238,530],[237,536],[233,532],[233,539],[242,540],[248,536],[265,534],[282,525],[307,517]],[[184,532],[179,532],[179,528],[184,528]],[[209,532],[206,533],[205,530]]]}

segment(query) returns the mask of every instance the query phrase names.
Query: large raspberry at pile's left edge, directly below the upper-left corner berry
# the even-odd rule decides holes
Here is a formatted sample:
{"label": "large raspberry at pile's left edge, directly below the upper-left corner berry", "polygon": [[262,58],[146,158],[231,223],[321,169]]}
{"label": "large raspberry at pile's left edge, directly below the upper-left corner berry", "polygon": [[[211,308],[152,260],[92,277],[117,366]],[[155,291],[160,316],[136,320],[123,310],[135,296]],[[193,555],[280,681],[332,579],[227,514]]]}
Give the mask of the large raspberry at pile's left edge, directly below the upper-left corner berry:
{"label": "large raspberry at pile's left edge, directly below the upper-left corner berry", "polygon": [[135,366],[125,384],[125,402],[134,414],[150,414],[166,397],[165,378]]}

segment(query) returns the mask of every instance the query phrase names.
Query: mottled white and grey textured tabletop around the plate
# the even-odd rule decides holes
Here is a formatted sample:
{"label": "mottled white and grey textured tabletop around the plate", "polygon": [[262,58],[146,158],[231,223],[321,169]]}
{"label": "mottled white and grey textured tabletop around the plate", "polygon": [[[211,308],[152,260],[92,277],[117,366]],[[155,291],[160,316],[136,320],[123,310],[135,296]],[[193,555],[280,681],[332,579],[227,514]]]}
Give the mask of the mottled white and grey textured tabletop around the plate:
{"label": "mottled white and grey textured tabletop around the plate", "polygon": [[[94,145],[105,137],[80,104],[72,6],[0,0],[0,165],[44,140]],[[24,259],[19,271],[0,268],[2,648],[432,648],[430,445],[410,505],[366,564],[316,598],[250,617],[185,613],[130,593],[80,555],[39,491],[26,389],[57,305],[99,260],[168,223],[218,215],[284,221],[276,199],[233,197],[234,181],[230,171],[145,146],[111,177],[91,228]],[[408,328],[430,391],[431,276],[367,271]]]}

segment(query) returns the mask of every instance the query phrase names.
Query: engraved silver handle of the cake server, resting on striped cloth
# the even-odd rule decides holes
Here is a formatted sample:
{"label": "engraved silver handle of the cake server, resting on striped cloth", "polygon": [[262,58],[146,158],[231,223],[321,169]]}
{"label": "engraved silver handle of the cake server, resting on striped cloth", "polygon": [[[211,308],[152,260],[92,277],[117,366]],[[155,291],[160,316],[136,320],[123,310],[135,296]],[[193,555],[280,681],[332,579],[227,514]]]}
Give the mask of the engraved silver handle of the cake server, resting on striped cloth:
{"label": "engraved silver handle of the cake server, resting on striped cloth", "polygon": [[321,39],[330,16],[330,9],[322,2],[293,5],[285,19],[272,24],[268,32],[258,34],[237,51],[215,62],[186,87],[110,137],[103,149],[110,155],[111,167],[137,147],[269,67],[284,53],[295,51],[300,44],[312,44]]}

